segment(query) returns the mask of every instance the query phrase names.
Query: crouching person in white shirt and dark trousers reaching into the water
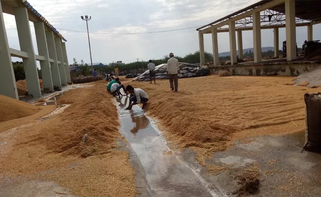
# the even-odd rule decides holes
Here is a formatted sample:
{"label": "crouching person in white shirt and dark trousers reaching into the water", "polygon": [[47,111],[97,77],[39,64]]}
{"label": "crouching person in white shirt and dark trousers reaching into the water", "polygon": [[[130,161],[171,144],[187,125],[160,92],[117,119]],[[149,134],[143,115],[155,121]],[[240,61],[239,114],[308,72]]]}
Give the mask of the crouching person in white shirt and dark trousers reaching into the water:
{"label": "crouching person in white shirt and dark trousers reaching into the water", "polygon": [[130,94],[129,106],[126,109],[131,110],[135,104],[143,103],[142,109],[147,105],[148,95],[145,91],[139,88],[133,88],[132,86],[126,86],[127,92]]}

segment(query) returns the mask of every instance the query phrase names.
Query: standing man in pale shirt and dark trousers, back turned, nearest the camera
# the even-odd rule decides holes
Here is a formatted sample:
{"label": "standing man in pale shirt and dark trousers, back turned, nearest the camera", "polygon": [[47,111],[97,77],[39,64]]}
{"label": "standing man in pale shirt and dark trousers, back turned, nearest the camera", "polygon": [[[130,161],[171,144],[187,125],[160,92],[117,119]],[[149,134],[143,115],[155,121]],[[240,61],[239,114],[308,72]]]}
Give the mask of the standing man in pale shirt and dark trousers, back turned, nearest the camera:
{"label": "standing man in pale shirt and dark trousers, back turned, nearest the camera", "polygon": [[[177,92],[178,88],[178,73],[179,73],[179,64],[178,60],[174,58],[174,54],[169,54],[170,59],[167,61],[167,75],[169,75],[169,84],[170,88],[173,91],[175,86],[175,92]],[[173,86],[174,80],[174,86]]]}

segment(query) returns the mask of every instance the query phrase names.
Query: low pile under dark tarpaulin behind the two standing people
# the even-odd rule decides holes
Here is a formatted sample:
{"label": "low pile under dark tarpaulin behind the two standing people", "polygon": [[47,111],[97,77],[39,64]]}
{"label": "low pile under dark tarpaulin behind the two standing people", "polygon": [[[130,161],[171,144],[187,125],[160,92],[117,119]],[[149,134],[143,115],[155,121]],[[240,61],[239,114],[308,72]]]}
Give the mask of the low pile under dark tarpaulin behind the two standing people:
{"label": "low pile under dark tarpaulin behind the two standing people", "polygon": [[[178,78],[190,78],[190,77],[201,77],[209,74],[208,68],[201,68],[200,66],[179,63],[180,73],[178,73]],[[162,64],[156,66],[155,68],[155,78],[156,79],[168,79],[169,76],[166,73],[167,64]],[[149,81],[150,75],[149,70],[145,71],[143,74],[137,76],[133,81]]]}

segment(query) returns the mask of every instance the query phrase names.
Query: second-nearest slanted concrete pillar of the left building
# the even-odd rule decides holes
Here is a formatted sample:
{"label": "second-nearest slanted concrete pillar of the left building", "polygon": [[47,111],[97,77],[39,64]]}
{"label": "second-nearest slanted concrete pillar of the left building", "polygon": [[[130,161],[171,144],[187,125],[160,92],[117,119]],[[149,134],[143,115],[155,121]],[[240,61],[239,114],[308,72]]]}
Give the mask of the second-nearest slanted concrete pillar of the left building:
{"label": "second-nearest slanted concrete pillar of the left building", "polygon": [[17,7],[14,8],[13,11],[16,19],[21,51],[27,52],[29,56],[29,58],[23,59],[23,67],[26,74],[28,94],[33,95],[35,98],[39,98],[41,97],[41,91],[27,8]]}

